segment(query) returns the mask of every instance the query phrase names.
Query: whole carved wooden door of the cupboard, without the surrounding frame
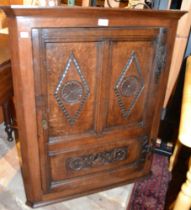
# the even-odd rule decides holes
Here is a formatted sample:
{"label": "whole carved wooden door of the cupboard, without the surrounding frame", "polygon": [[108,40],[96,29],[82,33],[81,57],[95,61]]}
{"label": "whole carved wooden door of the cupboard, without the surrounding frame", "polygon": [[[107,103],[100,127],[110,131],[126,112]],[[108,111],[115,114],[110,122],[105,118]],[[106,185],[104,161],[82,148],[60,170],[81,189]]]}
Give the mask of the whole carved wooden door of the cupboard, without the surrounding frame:
{"label": "whole carved wooden door of the cupboard, without the surrounding frame", "polygon": [[164,32],[136,27],[32,30],[44,192],[64,189],[69,196],[148,173],[145,151]]}

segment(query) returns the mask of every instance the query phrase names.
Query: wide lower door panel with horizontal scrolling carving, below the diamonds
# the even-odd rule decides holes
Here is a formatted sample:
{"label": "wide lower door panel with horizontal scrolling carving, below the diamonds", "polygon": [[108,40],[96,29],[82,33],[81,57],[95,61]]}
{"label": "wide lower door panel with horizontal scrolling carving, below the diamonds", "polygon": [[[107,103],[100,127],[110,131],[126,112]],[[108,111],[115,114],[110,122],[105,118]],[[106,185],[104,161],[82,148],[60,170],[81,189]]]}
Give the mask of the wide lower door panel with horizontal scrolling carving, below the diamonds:
{"label": "wide lower door panel with horizontal scrolling carving, below the diamonds", "polygon": [[49,152],[52,181],[102,173],[127,167],[141,158],[145,137],[86,143],[76,148]]}

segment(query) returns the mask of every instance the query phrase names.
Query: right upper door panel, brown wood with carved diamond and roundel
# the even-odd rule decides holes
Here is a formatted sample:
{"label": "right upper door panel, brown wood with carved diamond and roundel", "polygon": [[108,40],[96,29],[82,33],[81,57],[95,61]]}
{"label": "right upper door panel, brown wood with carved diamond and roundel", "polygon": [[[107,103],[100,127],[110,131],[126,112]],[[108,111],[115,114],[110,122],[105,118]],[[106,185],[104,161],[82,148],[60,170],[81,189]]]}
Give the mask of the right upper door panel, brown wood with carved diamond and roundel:
{"label": "right upper door panel, brown wood with carved diamond and roundel", "polygon": [[153,42],[112,43],[107,128],[147,123],[145,115],[154,54]]}

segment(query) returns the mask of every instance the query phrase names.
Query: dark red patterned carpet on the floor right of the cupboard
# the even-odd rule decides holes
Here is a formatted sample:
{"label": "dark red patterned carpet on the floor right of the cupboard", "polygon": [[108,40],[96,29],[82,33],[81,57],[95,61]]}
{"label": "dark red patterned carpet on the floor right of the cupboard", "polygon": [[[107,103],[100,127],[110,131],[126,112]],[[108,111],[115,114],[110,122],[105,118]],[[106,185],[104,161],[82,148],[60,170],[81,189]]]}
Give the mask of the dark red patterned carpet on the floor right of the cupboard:
{"label": "dark red patterned carpet on the floor right of the cupboard", "polygon": [[152,175],[135,183],[127,210],[163,210],[170,179],[168,157],[154,154]]}

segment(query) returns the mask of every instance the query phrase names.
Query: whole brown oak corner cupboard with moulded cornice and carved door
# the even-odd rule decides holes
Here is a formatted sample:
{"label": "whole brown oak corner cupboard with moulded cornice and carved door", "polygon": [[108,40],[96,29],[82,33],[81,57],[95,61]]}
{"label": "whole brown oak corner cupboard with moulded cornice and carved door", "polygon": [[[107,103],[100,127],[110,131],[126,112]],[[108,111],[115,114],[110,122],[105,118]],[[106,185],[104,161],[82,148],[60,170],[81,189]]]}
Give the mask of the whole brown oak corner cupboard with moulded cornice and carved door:
{"label": "whole brown oak corner cupboard with moulded cornice and carved door", "polygon": [[150,173],[183,12],[1,7],[32,207]]}

